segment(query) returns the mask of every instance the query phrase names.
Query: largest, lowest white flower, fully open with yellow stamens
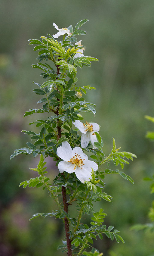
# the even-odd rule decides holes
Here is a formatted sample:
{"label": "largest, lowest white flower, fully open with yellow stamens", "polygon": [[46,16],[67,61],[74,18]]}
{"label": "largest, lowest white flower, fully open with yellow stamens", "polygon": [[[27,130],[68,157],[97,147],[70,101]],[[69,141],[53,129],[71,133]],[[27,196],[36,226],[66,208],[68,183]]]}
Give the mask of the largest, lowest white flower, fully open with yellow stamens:
{"label": "largest, lowest white flower, fully open with yellow stamens", "polygon": [[57,148],[57,156],[63,159],[58,164],[60,173],[63,173],[63,171],[67,173],[75,172],[76,177],[82,183],[91,179],[91,168],[94,171],[98,169],[98,165],[94,161],[88,160],[88,156],[83,153],[80,147],[72,149],[67,141],[64,141],[62,146]]}

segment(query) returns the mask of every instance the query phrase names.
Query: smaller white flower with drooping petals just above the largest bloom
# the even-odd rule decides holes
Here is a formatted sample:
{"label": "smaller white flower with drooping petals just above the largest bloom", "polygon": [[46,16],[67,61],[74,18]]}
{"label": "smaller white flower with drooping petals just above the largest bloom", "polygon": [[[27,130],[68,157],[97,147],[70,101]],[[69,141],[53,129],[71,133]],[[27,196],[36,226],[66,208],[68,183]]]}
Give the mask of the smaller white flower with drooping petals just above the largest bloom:
{"label": "smaller white flower with drooping petals just above the largest bloom", "polygon": [[82,133],[81,135],[81,146],[82,148],[86,148],[88,146],[89,141],[93,145],[93,148],[96,148],[94,142],[98,142],[96,138],[96,133],[99,132],[100,126],[97,123],[82,123],[79,120],[76,120],[74,123],[75,127],[79,129]]}

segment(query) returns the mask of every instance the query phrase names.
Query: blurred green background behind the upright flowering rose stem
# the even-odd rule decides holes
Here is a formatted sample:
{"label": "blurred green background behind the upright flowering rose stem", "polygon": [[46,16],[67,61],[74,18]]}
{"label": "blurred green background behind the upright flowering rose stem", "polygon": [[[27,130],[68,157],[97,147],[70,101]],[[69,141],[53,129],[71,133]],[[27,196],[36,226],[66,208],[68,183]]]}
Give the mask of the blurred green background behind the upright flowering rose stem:
{"label": "blurred green background behind the upright flowering rose stem", "polygon": [[[106,225],[121,230],[125,244],[111,242],[104,237],[94,246],[105,256],[152,256],[154,234],[130,231],[136,223],[148,221],[147,212],[152,195],[149,183],[143,177],[154,170],[154,145],[145,139],[147,130],[154,130],[144,115],[154,116],[154,1],[153,0],[1,0],[0,8],[0,255],[1,256],[58,256],[63,225],[54,218],[29,218],[37,212],[50,212],[55,207],[42,188],[19,188],[34,173],[38,158],[9,156],[14,149],[25,147],[30,140],[21,130],[41,117],[32,115],[23,119],[29,108],[37,108],[33,81],[42,83],[40,72],[31,68],[37,54],[28,46],[29,38],[55,34],[52,23],[58,27],[74,27],[79,20],[89,19],[83,26],[87,36],[78,36],[86,46],[84,54],[99,59],[92,67],[78,72],[78,85],[91,85],[96,91],[86,99],[97,104],[96,117],[89,121],[101,125],[104,153],[112,147],[112,137],[122,151],[132,152],[137,159],[125,167],[135,184],[122,177],[106,177],[104,192],[113,196],[111,203],[101,201],[96,206],[108,214]],[[35,126],[30,127],[38,131]],[[57,167],[48,160],[49,177]],[[86,221],[90,217],[85,217]]]}

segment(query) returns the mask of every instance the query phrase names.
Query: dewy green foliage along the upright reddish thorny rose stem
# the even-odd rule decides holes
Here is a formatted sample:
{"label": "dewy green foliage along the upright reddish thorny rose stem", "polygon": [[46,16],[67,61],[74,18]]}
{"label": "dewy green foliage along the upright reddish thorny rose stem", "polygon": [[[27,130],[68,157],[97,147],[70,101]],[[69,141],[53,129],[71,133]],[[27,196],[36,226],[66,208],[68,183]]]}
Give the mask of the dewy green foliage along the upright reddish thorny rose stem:
{"label": "dewy green foliage along the upright reddish thorny rose stem", "polygon": [[[118,173],[125,180],[129,180],[131,183],[134,182],[131,177],[122,171],[105,169],[105,171],[99,172],[97,171],[96,166],[98,165],[98,167],[100,167],[103,164],[109,165],[109,162],[112,161],[116,166],[120,164],[123,169],[124,164],[129,164],[125,158],[133,160],[133,157],[136,157],[129,152],[119,152],[120,148],[116,149],[114,138],[112,151],[105,157],[103,153],[103,140],[97,132],[98,130],[95,131],[94,126],[91,123],[89,124],[86,122],[87,127],[85,123],[81,123],[81,125],[86,127],[83,133],[87,132],[88,137],[88,134],[92,132],[91,136],[94,136],[95,139],[94,145],[91,141],[91,143],[89,143],[86,148],[83,148],[83,150],[92,154],[90,157],[94,160],[93,164],[95,166],[95,172],[93,168],[86,167],[86,164],[84,164],[83,161],[86,161],[84,155],[83,159],[80,159],[81,156],[79,153],[77,154],[80,156],[79,158],[75,158],[74,155],[71,158],[69,155],[67,158],[70,157],[70,160],[68,161],[68,159],[65,159],[65,154],[67,155],[67,152],[63,152],[63,145],[69,144],[70,150],[71,148],[77,148],[82,151],[81,145],[83,137],[78,134],[78,129],[73,126],[76,120],[83,119],[80,113],[90,112],[94,115],[96,114],[94,108],[96,105],[86,101],[81,93],[82,91],[86,94],[87,90],[95,88],[90,85],[83,85],[82,87],[76,86],[78,81],[78,78],[76,77],[78,71],[77,68],[82,68],[83,66],[90,67],[91,61],[98,61],[97,58],[83,56],[82,52],[85,48],[80,44],[81,41],[73,45],[74,42],[77,42],[75,36],[86,35],[86,32],[79,28],[87,21],[87,19],[79,21],[75,26],[74,32],[72,25],[70,25],[67,28],[69,32],[65,35],[63,35],[63,32],[61,33],[61,31],[67,31],[67,29],[60,29],[59,33],[63,35],[63,41],[56,40],[54,35],[51,36],[50,34],[47,35],[48,37],[41,36],[42,41],[29,39],[29,45],[35,44],[34,51],[38,51],[37,60],[39,62],[37,64],[32,64],[32,68],[41,70],[42,73],[40,75],[43,76],[45,82],[42,84],[33,82],[37,86],[37,88],[33,89],[33,92],[37,95],[43,95],[43,98],[40,98],[37,101],[42,107],[38,109],[29,109],[29,111],[25,112],[24,117],[46,112],[48,113],[48,117],[29,123],[29,125],[35,124],[36,127],[42,126],[40,132],[35,133],[33,131],[23,130],[25,134],[31,135],[31,141],[33,143],[27,142],[28,148],[17,149],[10,157],[11,159],[19,154],[33,154],[35,157],[40,154],[40,161],[37,168],[30,168],[30,170],[37,172],[38,176],[21,182],[20,186],[23,186],[23,188],[26,188],[27,186],[39,188],[42,186],[43,190],[48,190],[49,195],[56,202],[57,209],[53,209],[51,213],[36,213],[30,220],[40,216],[62,219],[63,223],[65,223],[66,241],[63,241],[63,245],[60,245],[58,249],[63,249],[62,252],[68,251],[69,256],[72,255],[69,252],[70,250],[78,255],[101,256],[102,253],[99,253],[95,248],[90,252],[86,252],[85,250],[86,248],[91,247],[94,243],[93,239],[97,239],[97,237],[103,239],[103,234],[111,240],[115,238],[118,243],[119,241],[124,243],[124,240],[119,236],[119,231],[117,229],[114,229],[112,232],[112,229],[114,228],[113,226],[109,226],[108,229],[106,229],[106,225],[102,225],[107,214],[103,212],[102,208],[100,208],[98,212],[95,212],[93,202],[101,201],[102,199],[111,202],[112,196],[103,191],[105,186],[103,179],[106,174]],[[79,57],[80,55],[81,57]],[[54,69],[51,67],[50,63],[48,64],[45,61],[54,64]],[[62,159],[59,157],[60,154],[58,151],[63,152]],[[56,176],[51,183],[48,182],[50,179],[45,176],[47,171],[44,158],[48,156],[56,161],[56,165],[60,170],[58,176]],[[84,172],[82,174],[82,168],[80,170],[80,180],[80,177],[78,176],[78,179],[75,172],[72,172],[72,170],[69,171],[67,166],[64,169],[60,167],[64,162],[65,164],[74,164],[75,171],[78,171],[81,166],[83,166],[82,168],[85,168],[87,172],[92,170],[91,178],[86,176],[87,180],[83,183],[82,175],[86,174]],[[79,163],[81,163],[81,166]],[[90,164],[91,162],[88,163]],[[74,204],[74,202],[76,204],[76,211],[79,212],[78,216],[75,218],[71,217],[71,213],[68,211],[68,206]],[[89,227],[86,224],[82,224],[82,216],[91,213],[93,214],[93,217],[91,217],[91,226]]]}

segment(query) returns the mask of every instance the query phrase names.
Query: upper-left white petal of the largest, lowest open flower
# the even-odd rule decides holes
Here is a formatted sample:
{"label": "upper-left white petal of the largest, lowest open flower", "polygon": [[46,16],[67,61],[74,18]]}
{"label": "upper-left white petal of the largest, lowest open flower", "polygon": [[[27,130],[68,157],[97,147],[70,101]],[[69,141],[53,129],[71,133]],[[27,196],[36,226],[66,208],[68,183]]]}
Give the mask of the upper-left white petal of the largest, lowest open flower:
{"label": "upper-left white petal of the largest, lowest open flower", "polygon": [[57,156],[64,161],[69,161],[72,158],[72,148],[67,141],[64,141],[61,147],[57,148]]}

